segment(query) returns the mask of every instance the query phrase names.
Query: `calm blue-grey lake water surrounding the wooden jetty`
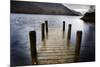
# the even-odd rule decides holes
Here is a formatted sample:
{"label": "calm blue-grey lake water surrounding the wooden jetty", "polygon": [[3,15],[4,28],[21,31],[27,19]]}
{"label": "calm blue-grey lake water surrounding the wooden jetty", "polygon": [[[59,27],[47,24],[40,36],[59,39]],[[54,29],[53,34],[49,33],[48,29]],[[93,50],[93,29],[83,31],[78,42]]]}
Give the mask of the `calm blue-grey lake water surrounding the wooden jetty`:
{"label": "calm blue-grey lake water surrounding the wooden jetty", "polygon": [[29,31],[36,30],[37,48],[41,41],[41,23],[48,20],[49,28],[62,28],[62,22],[72,24],[71,42],[75,45],[76,31],[82,30],[80,61],[95,60],[95,25],[80,20],[81,16],[11,14],[11,65],[30,65]]}

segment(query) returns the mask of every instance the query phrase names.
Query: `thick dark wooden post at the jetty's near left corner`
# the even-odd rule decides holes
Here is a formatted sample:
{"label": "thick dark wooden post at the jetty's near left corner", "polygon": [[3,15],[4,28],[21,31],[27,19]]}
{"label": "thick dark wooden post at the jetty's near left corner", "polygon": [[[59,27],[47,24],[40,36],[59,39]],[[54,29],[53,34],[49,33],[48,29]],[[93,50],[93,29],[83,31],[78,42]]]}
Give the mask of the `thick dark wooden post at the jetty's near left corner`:
{"label": "thick dark wooden post at the jetty's near left corner", "polygon": [[30,31],[29,37],[30,37],[32,64],[38,64],[38,62],[37,62],[37,52],[36,52],[36,32]]}

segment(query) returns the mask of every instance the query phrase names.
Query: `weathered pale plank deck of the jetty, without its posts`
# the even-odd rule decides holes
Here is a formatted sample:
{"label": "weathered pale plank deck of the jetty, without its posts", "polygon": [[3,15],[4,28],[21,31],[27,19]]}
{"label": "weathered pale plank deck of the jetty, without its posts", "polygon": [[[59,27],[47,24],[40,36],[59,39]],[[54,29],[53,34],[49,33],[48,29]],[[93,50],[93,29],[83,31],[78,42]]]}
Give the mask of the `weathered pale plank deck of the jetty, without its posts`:
{"label": "weathered pale plank deck of the jetty, without its posts", "polygon": [[37,50],[38,64],[59,64],[74,62],[75,48],[67,41],[62,29],[49,28],[48,35]]}

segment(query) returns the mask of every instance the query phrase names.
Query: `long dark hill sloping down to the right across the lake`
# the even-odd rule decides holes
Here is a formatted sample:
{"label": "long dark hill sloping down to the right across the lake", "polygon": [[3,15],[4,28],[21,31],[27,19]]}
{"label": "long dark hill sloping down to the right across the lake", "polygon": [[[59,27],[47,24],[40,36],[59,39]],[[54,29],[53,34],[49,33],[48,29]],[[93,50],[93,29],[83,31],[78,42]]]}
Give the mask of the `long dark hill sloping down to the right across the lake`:
{"label": "long dark hill sloping down to the right across the lake", "polygon": [[49,14],[49,15],[74,15],[80,16],[80,12],[76,12],[58,3],[41,3],[41,2],[25,2],[11,1],[11,13],[25,14]]}

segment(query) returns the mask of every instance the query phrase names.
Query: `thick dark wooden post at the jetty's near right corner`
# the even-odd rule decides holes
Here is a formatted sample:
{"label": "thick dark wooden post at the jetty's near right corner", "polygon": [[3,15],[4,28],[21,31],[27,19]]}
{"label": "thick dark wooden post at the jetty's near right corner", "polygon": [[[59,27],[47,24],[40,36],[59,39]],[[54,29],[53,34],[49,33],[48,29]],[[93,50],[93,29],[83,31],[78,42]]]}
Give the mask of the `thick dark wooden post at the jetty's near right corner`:
{"label": "thick dark wooden post at the jetty's near right corner", "polygon": [[76,37],[76,47],[75,47],[75,61],[78,61],[79,57],[80,57],[82,31],[77,31],[76,35],[77,35],[77,37]]}

